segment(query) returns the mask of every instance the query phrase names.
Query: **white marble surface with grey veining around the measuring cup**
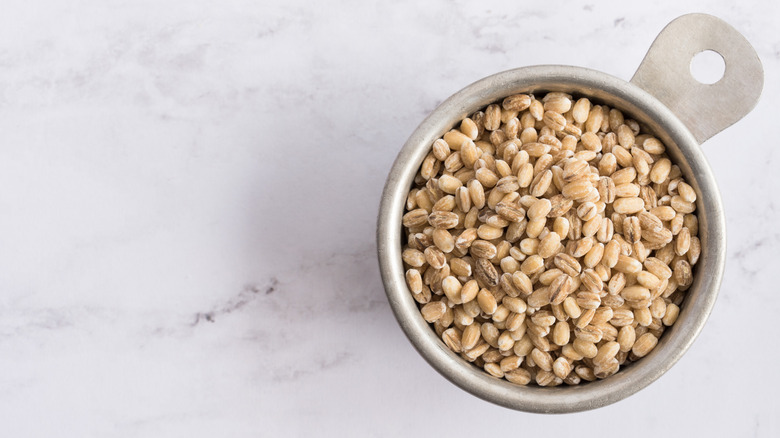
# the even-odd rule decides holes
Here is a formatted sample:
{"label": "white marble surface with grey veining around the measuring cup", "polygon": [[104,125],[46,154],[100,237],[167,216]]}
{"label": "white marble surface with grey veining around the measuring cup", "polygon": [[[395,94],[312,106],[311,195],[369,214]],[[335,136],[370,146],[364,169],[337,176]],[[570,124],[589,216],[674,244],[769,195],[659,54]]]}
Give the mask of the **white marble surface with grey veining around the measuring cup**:
{"label": "white marble surface with grey veining around the measuring cup", "polygon": [[[774,1],[6,0],[0,412],[13,437],[778,436]],[[704,145],[717,307],[647,389],[509,411],[448,383],[386,302],[375,215],[444,98],[533,64],[628,79],[687,12],[752,42],[763,99]]]}

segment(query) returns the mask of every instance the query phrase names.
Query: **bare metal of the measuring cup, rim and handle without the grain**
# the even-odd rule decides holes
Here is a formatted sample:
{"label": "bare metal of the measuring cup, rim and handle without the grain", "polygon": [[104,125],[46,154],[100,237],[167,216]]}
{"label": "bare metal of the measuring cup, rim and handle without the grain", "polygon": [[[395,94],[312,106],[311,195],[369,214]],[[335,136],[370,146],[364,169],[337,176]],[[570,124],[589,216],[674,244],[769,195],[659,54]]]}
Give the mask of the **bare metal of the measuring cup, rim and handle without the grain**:
{"label": "bare metal of the measuring cup, rim and handle without the grain", "polygon": [[[724,77],[703,85],[690,77],[690,60],[713,50],[726,63]],[[382,195],[377,246],[391,308],[417,351],[439,373],[484,400],[529,412],[564,413],[602,407],[646,387],[687,351],[715,304],[726,261],[725,215],[700,143],[747,114],[763,86],[763,70],[750,44],[725,22],[704,14],[682,16],[658,36],[631,82],[571,66],[524,67],[489,76],[457,92],[414,131],[399,153]],[[409,292],[401,260],[406,195],[434,140],[461,119],[516,93],[563,91],[622,110],[664,142],[697,194],[702,252],[677,322],[656,348],[617,374],[577,386],[520,386],[496,379],[450,351],[423,320]],[[728,104],[728,105],[726,105]]]}

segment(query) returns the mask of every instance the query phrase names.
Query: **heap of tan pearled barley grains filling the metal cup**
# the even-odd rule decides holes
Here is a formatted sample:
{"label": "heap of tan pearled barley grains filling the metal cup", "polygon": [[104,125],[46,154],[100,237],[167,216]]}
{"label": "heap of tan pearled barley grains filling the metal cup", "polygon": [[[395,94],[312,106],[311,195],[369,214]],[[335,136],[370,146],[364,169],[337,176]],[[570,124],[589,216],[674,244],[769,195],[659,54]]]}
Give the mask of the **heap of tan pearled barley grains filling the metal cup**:
{"label": "heap of tan pearled barley grains filling the metal cup", "polygon": [[403,216],[406,281],[455,353],[540,386],[615,374],[674,324],[696,193],[617,109],[509,96],[433,143]]}

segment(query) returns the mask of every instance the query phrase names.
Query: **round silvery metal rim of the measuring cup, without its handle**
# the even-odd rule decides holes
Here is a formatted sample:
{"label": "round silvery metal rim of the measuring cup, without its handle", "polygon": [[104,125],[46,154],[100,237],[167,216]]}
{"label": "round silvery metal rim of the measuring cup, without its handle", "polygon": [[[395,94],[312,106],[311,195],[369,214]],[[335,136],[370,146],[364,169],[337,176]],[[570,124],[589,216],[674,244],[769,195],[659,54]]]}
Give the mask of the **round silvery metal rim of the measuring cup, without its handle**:
{"label": "round silvery metal rim of the measuring cup, without its handle", "polygon": [[[667,145],[669,155],[699,194],[696,202],[702,253],[695,267],[698,275],[694,275],[677,322],[642,360],[607,379],[568,387],[516,385],[488,375],[450,351],[420,315],[406,286],[401,260],[401,217],[406,195],[431,143],[477,109],[511,94],[535,91],[568,91],[597,101],[618,102],[616,107],[648,127]],[[442,376],[479,398],[510,409],[568,413],[624,399],[680,360],[715,304],[725,268],[725,236],[725,215],[709,164],[691,132],[666,106],[638,86],[606,73],[583,67],[539,65],[497,73],[466,86],[415,129],[385,183],[377,220],[377,254],[385,292],[398,324],[418,353]]]}

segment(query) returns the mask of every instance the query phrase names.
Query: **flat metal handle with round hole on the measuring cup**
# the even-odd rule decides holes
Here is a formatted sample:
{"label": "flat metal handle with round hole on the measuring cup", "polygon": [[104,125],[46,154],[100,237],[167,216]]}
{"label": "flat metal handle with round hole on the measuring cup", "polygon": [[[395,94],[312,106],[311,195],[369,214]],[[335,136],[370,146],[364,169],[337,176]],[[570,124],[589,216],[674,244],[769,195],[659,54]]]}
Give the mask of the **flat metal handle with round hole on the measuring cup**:
{"label": "flat metal handle with round hole on the measuring cup", "polygon": [[[691,75],[693,56],[705,50],[717,52],[726,64],[723,78],[714,84]],[[689,14],[661,31],[631,82],[672,110],[701,144],[756,106],[764,69],[736,29],[712,15]]]}

